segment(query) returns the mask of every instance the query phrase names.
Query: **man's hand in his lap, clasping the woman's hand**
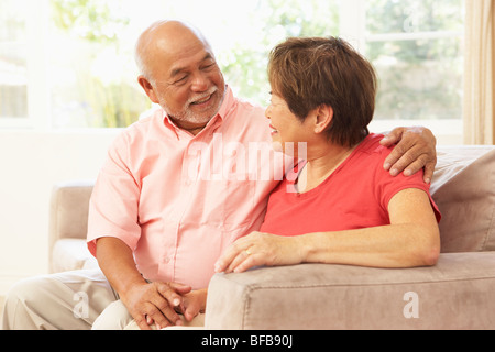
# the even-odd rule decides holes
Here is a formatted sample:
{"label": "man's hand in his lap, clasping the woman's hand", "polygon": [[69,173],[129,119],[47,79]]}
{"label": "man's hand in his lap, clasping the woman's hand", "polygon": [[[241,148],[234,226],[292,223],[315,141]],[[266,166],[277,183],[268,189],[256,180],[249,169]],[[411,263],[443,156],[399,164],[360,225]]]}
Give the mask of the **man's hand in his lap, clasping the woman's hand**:
{"label": "man's hand in his lap, clasping the woman's hand", "polygon": [[121,299],[141,330],[150,330],[153,323],[160,330],[183,323],[176,311],[185,309],[182,295],[190,290],[176,283],[145,283],[133,286]]}

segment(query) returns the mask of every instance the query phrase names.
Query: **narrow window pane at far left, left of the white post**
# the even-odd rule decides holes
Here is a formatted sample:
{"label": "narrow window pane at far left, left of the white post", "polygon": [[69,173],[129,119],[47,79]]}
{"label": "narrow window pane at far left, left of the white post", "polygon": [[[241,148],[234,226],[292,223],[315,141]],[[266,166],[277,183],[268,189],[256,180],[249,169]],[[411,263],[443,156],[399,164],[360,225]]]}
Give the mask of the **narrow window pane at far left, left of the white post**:
{"label": "narrow window pane at far left, left of the white post", "polygon": [[0,0],[0,128],[46,120],[45,10],[45,1]]}

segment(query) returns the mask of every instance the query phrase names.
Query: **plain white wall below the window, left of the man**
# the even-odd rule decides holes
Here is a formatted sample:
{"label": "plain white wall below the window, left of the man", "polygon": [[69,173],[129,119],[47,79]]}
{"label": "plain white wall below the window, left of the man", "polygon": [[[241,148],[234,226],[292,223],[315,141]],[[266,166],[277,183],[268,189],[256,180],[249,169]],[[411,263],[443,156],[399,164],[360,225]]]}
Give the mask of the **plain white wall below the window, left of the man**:
{"label": "plain white wall below the window, left of the man", "polygon": [[0,130],[0,295],[48,272],[48,209],[55,183],[95,179],[119,130]]}

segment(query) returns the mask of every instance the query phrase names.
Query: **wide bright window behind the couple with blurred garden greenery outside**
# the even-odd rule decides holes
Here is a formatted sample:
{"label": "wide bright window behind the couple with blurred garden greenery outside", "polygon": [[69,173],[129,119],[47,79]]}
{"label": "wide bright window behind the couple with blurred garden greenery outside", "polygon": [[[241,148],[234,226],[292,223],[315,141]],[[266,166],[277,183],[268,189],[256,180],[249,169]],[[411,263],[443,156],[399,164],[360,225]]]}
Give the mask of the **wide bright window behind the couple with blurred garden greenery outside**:
{"label": "wide bright window behind the couple with blurred garden greenery outside", "polygon": [[267,54],[285,37],[340,35],[378,72],[374,131],[425,124],[460,135],[463,11],[464,0],[0,0],[0,121],[129,125],[151,107],[135,40],[179,18],[205,32],[242,98],[266,105]]}

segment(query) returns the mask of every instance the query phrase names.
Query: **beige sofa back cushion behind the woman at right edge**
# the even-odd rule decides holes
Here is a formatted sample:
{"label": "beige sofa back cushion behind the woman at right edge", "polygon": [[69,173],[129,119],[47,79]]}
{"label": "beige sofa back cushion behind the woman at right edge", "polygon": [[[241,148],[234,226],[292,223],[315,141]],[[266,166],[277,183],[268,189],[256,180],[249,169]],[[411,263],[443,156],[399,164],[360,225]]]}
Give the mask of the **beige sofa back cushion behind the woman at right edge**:
{"label": "beige sofa back cushion behind the woman at right edge", "polygon": [[439,148],[431,195],[443,253],[495,251],[495,147]]}

